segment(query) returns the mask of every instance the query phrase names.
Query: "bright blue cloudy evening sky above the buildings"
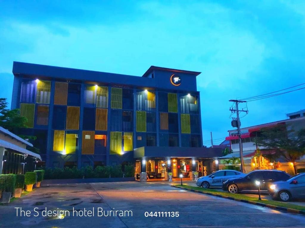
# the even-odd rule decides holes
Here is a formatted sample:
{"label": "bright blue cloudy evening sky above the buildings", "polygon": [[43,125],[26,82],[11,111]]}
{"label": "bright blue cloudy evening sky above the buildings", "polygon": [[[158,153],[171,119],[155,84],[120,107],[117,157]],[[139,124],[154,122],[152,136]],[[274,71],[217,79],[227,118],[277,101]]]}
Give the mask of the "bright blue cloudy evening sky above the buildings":
{"label": "bright blue cloudy evening sky above the buildings", "polygon": [[[304,1],[1,1],[0,97],[13,61],[142,75],[200,71],[203,140],[231,129],[229,99],[305,82]],[[305,108],[305,90],[248,103],[250,126]]]}

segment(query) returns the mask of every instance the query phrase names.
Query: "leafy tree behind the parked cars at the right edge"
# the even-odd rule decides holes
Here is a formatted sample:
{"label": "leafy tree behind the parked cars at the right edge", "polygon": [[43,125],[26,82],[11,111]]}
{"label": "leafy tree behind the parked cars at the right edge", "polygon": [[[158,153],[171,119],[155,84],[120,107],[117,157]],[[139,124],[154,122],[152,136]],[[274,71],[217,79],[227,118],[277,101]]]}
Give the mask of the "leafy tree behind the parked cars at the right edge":
{"label": "leafy tree behind the parked cars at the right edge", "polygon": [[291,162],[297,173],[295,162],[305,154],[305,129],[295,132],[287,130],[286,125],[263,128],[260,136],[254,140],[257,146],[274,150],[273,154],[264,155],[265,157],[269,160],[282,158],[286,162]]}

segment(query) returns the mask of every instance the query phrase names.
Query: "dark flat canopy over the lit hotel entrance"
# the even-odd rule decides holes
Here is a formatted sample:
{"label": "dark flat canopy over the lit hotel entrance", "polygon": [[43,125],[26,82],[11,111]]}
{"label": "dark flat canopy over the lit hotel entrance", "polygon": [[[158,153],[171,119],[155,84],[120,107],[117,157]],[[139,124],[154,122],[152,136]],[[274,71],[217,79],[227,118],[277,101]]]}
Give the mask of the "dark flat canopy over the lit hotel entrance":
{"label": "dark flat canopy over the lit hotel entrance", "polygon": [[143,146],[134,149],[134,158],[141,157],[221,157],[221,148]]}

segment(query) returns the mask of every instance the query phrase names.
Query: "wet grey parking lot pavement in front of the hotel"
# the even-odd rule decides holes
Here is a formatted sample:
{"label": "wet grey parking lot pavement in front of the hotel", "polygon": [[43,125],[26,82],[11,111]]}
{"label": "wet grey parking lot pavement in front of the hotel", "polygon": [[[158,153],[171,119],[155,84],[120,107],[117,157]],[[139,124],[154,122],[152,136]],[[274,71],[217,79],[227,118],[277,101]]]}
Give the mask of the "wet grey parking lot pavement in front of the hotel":
{"label": "wet grey parking lot pavement in front of the hotel", "polygon": [[[16,217],[16,209],[102,207],[131,210],[132,217]],[[145,217],[145,212],[179,212],[179,217]],[[157,215],[158,216],[158,215]],[[0,227],[304,227],[305,216],[279,212],[175,189],[168,182],[50,185],[0,206]]]}

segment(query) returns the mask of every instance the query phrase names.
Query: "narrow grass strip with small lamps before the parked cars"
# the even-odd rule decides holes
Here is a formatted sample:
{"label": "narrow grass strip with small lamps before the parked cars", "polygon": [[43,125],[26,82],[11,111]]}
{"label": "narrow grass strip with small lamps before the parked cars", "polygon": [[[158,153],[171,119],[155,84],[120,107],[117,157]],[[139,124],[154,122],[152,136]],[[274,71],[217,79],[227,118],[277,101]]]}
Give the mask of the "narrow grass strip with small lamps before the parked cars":
{"label": "narrow grass strip with small lamps before the parked cars", "polygon": [[305,212],[305,207],[300,206],[300,205],[284,203],[284,202],[279,202],[279,201],[275,201],[275,200],[268,200],[268,199],[258,200],[257,197],[250,197],[250,196],[246,196],[246,195],[242,195],[242,194],[233,194],[233,193],[230,193],[230,192],[221,192],[221,191],[217,191],[215,189],[209,189],[209,188],[206,189],[206,188],[201,188],[201,187],[194,187],[194,186],[190,186],[190,185],[187,185],[187,184],[183,184],[182,186],[181,186],[181,184],[174,184],[174,185],[179,186],[179,187],[183,187],[183,188],[187,188],[187,189],[201,191],[201,192],[213,193],[215,195],[227,196],[227,197],[232,197],[232,198],[235,198],[235,199],[247,200],[247,201],[256,202],[256,203],[264,203],[264,204],[273,205],[273,206],[276,206],[276,207],[295,209],[295,210],[300,210],[300,211]]}

